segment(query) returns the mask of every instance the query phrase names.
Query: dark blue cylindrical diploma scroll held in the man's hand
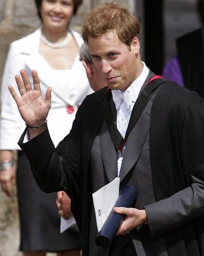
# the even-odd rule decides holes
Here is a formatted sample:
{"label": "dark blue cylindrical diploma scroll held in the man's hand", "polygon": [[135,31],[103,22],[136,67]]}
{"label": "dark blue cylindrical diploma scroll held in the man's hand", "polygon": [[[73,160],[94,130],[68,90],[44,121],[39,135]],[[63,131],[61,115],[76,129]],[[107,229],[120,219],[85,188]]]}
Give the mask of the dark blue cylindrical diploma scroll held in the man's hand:
{"label": "dark blue cylindrical diploma scroll held in the man's hand", "polygon": [[[137,191],[136,188],[131,185],[126,185],[126,187],[121,191],[114,207],[131,207],[136,199]],[[125,215],[115,213],[113,209],[111,210],[108,218],[105,220],[100,232],[96,236],[96,244],[101,248],[107,248],[110,246],[112,239],[114,239],[122,220],[124,220]]]}

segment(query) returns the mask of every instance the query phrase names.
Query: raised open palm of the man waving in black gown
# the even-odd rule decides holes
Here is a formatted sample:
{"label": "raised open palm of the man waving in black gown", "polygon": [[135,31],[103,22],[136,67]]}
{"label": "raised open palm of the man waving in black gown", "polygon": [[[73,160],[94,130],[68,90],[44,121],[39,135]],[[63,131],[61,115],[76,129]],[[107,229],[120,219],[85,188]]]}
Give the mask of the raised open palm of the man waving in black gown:
{"label": "raised open palm of the man waving in black gown", "polygon": [[26,122],[27,126],[35,127],[37,125],[43,125],[47,118],[48,112],[51,107],[51,87],[48,87],[45,97],[42,96],[40,90],[40,81],[36,71],[31,71],[33,77],[34,89],[31,88],[29,78],[26,71],[23,69],[19,75],[15,76],[17,87],[20,96],[16,93],[12,85],[9,85],[9,91],[12,94],[13,99],[16,101],[19,108],[20,115]]}

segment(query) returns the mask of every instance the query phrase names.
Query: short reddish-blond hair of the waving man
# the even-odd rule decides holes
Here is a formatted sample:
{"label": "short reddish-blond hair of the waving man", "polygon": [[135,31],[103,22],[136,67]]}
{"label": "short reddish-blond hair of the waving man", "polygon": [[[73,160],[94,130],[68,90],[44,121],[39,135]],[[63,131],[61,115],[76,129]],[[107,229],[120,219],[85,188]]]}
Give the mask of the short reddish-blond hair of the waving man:
{"label": "short reddish-blond hair of the waving man", "polygon": [[130,45],[133,37],[139,37],[140,24],[125,5],[104,3],[86,16],[82,37],[88,44],[88,37],[96,38],[111,30],[116,31],[119,40]]}

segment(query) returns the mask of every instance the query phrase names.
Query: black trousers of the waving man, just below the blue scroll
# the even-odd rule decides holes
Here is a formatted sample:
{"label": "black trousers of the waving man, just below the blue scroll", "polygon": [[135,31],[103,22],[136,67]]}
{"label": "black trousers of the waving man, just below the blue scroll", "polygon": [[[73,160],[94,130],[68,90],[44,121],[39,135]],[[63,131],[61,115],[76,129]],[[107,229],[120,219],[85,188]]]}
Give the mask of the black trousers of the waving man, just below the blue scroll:
{"label": "black trousers of the waving man, just below the blue scroll", "polygon": [[135,246],[129,233],[116,236],[111,243],[108,256],[136,256]]}

